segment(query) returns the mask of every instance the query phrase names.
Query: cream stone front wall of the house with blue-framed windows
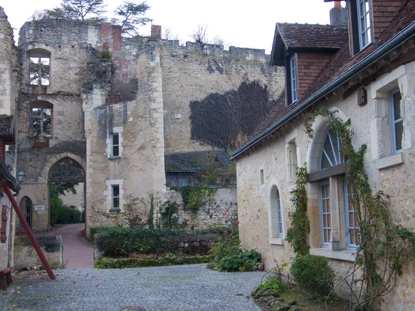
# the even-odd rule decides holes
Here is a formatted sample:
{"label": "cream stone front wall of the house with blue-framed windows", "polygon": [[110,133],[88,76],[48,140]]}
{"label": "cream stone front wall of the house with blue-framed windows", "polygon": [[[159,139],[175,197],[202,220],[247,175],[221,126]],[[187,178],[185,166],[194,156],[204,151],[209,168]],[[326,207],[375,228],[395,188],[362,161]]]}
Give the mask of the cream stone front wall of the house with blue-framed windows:
{"label": "cream stone front wall of the house with blue-framed windows", "polygon": [[[367,144],[365,152],[365,169],[374,192],[385,191],[390,196],[389,209],[397,223],[415,229],[415,212],[413,209],[413,173],[414,158],[414,120],[415,120],[415,62],[394,68],[390,73],[382,75],[375,82],[366,86],[368,102],[358,106],[358,92],[355,91],[345,98],[339,93],[322,104],[331,111],[338,111],[342,120],[351,119],[351,130],[354,133],[353,147],[358,149]],[[390,91],[399,87],[402,95],[400,109],[403,117],[403,151],[393,154],[391,150],[390,128]],[[389,120],[389,121],[388,121]],[[307,163],[308,173],[317,171],[321,152],[321,142],[324,138],[324,118],[316,117],[313,123],[313,140],[309,141],[304,133],[304,126],[293,121],[277,135],[252,149],[248,155],[240,156],[237,160],[237,185],[239,207],[239,233],[242,246],[245,249],[257,249],[266,264],[266,269],[274,267],[275,261],[289,261],[293,250],[284,237],[290,227],[288,213],[293,211],[293,181],[289,176],[289,161],[286,157],[288,143],[297,146],[297,163]],[[389,123],[388,123],[389,122]],[[317,151],[317,152],[316,152]],[[264,171],[264,184],[261,184],[260,171]],[[272,195],[273,187],[277,187],[282,208],[284,236],[273,238],[270,235],[270,223],[273,215],[271,208],[275,207]],[[354,262],[353,251],[343,248],[332,250],[322,247],[322,230],[320,218],[320,182],[307,184],[308,218],[311,230],[308,243],[311,254],[331,258],[338,281],[347,273]],[[342,187],[340,187],[342,189]],[[340,191],[341,192],[341,191]],[[335,208],[335,205],[331,205]],[[345,207],[340,204],[340,245],[346,241]],[[414,283],[414,263],[406,263],[403,276],[398,277],[396,288],[385,297],[382,310],[411,310],[415,296],[411,290]],[[337,288],[339,294],[348,298],[349,290],[345,284]]]}

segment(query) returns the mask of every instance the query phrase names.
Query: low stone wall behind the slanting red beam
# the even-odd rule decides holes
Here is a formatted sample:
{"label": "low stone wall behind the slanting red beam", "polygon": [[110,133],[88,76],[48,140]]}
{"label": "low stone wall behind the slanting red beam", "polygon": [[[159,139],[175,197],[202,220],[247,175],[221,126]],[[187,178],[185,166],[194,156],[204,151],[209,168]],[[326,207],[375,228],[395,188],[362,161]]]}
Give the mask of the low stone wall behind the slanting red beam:
{"label": "low stone wall behind the slanting red beam", "polygon": [[[62,267],[64,263],[62,236],[35,236],[35,238],[50,267],[53,269]],[[15,269],[28,269],[42,265],[28,236],[16,236],[14,255]]]}

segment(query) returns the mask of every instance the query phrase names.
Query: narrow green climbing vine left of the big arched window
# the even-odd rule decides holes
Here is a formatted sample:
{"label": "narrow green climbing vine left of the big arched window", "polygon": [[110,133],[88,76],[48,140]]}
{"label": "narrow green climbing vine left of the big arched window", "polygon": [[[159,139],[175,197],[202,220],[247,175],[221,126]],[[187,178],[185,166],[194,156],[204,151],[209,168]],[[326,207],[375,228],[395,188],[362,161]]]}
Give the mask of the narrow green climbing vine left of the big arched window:
{"label": "narrow green climbing vine left of the big arched window", "polygon": [[307,245],[306,236],[310,232],[310,221],[307,217],[307,171],[304,167],[297,169],[296,189],[291,202],[294,203],[295,211],[288,214],[291,220],[291,227],[287,229],[286,240],[294,249],[297,255],[308,254],[310,247]]}

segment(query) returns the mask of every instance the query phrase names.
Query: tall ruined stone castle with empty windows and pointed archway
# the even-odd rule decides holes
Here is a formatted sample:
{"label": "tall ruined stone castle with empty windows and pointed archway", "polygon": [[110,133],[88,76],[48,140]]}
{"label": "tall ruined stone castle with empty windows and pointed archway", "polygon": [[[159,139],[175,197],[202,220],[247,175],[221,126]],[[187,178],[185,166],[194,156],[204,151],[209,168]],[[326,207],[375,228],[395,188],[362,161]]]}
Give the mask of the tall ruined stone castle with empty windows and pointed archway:
{"label": "tall ruined stone castle with empty windows and pointed archway", "polygon": [[[110,23],[53,19],[21,28],[16,152],[26,180],[18,198],[30,206],[33,231],[50,227],[50,185],[84,185],[87,230],[147,225],[151,202],[181,200],[166,187],[165,156],[223,148],[206,142],[205,129],[194,135],[191,104],[238,97],[251,84],[270,102],[282,91],[283,72],[264,50],[180,46],[153,30],[124,38]],[[199,212],[201,227],[234,215],[234,186],[217,195]],[[183,213],[179,223],[199,219]]]}

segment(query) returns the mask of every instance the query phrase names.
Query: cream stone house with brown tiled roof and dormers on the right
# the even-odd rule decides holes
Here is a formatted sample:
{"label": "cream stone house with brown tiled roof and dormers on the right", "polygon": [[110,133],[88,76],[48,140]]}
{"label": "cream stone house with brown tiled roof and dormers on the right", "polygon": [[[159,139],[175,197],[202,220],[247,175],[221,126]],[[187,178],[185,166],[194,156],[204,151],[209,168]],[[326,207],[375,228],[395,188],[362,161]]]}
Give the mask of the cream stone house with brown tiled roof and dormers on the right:
{"label": "cream stone house with brown tiled roof and dormers on the right", "polygon": [[[337,134],[322,115],[311,120],[312,139],[304,131],[302,118],[319,106],[351,120],[353,147],[367,145],[372,190],[390,196],[396,223],[415,229],[415,1],[348,0],[347,9],[348,28],[277,24],[271,62],[285,68],[285,95],[232,154],[242,245],[267,269],[295,256],[285,238],[304,163],[310,254],[330,258],[339,279],[355,262],[359,228]],[[405,263],[380,310],[413,310],[414,280],[414,263]],[[344,283],[336,291],[349,298]]]}

